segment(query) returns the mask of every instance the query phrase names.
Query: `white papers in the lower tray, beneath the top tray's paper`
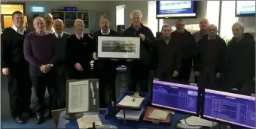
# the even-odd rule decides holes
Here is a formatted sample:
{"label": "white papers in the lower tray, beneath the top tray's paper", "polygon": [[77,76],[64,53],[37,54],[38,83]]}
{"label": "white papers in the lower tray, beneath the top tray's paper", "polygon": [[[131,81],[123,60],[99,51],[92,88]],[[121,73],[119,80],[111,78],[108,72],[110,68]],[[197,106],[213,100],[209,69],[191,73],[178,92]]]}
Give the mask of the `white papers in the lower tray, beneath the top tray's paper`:
{"label": "white papers in the lower tray, beneath the top tray's paper", "polygon": [[[139,117],[142,115],[143,110],[144,109],[142,109],[140,111],[126,110],[125,118],[127,120],[139,121]],[[117,113],[116,117],[118,119],[123,119],[123,110],[120,110],[120,112]]]}

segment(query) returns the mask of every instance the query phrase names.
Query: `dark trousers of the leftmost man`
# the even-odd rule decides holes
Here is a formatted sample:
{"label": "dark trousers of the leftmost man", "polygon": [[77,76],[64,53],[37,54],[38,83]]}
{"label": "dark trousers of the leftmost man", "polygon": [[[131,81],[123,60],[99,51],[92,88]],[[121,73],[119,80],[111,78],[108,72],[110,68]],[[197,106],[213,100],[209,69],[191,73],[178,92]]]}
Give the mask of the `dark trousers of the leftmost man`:
{"label": "dark trousers of the leftmost man", "polygon": [[12,117],[31,112],[30,98],[32,94],[32,84],[28,68],[26,69],[22,66],[10,68],[10,75],[8,75],[8,92]]}

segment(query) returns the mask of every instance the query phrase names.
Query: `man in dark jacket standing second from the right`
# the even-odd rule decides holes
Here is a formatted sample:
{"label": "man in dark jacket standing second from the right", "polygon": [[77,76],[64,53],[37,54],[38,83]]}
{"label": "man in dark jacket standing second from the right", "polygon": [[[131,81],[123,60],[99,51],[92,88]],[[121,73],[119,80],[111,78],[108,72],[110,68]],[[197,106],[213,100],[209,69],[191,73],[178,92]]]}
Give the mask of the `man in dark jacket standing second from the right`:
{"label": "man in dark jacket standing second from the right", "polygon": [[218,78],[224,71],[226,43],[217,35],[217,27],[209,25],[207,35],[198,41],[195,75],[199,77],[198,86],[206,89],[219,89]]}

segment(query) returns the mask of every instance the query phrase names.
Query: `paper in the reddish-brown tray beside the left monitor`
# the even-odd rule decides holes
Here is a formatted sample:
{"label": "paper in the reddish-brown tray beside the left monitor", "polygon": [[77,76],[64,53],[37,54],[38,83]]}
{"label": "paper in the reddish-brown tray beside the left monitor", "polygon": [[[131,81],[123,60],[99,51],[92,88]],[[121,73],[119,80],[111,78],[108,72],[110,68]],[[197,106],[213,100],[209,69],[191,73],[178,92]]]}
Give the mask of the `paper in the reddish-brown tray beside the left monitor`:
{"label": "paper in the reddish-brown tray beside the left monitor", "polygon": [[168,115],[169,113],[164,110],[153,110],[151,113],[148,114],[148,118],[166,121]]}

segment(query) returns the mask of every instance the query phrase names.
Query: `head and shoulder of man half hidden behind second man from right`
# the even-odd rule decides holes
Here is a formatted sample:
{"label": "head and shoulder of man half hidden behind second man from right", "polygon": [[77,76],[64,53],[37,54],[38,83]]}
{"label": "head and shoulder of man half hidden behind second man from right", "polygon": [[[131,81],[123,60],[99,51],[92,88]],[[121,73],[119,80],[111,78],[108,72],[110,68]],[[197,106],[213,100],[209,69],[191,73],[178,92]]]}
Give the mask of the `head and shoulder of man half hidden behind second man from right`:
{"label": "head and shoulder of man half hidden behind second man from right", "polygon": [[200,31],[197,31],[193,34],[196,42],[202,39],[203,35],[207,34],[207,27],[209,26],[209,21],[206,18],[203,18],[200,20],[199,26]]}

